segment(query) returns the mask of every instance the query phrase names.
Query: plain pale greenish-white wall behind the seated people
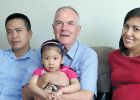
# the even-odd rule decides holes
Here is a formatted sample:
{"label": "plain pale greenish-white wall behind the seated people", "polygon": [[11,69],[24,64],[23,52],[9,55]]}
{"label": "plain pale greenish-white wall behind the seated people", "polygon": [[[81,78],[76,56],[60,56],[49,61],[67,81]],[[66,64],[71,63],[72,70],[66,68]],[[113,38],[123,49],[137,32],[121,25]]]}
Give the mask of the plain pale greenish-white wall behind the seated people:
{"label": "plain pale greenish-white wall behind the seated people", "polygon": [[31,46],[40,47],[54,38],[53,16],[57,8],[70,5],[80,15],[81,35],[78,40],[89,46],[118,48],[123,19],[126,13],[140,6],[139,0],[0,0],[0,48],[9,48],[5,18],[14,12],[24,13],[32,24]]}

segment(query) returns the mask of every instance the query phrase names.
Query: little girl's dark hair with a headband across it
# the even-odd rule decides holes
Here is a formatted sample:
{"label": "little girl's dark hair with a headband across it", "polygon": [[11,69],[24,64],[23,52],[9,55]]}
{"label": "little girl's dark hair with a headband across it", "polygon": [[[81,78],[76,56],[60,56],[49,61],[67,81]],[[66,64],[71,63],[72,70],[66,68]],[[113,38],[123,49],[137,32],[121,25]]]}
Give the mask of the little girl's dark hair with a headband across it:
{"label": "little girl's dark hair with a headband across it", "polygon": [[60,49],[60,54],[64,55],[64,46],[56,39],[51,39],[48,41],[45,41],[42,45],[41,45],[41,57],[42,57],[42,53],[46,48],[50,48],[50,47],[57,47]]}

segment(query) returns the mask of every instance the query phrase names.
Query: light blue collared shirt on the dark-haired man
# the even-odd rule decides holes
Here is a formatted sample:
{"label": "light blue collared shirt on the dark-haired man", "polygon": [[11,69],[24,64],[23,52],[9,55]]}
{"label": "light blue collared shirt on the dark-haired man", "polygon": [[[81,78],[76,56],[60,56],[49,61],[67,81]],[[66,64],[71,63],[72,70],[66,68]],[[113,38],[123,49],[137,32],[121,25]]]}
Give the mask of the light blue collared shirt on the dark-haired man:
{"label": "light blue collared shirt on the dark-haired man", "polygon": [[22,84],[27,68],[38,67],[34,52],[29,50],[17,58],[11,49],[0,50],[0,100],[21,100]]}

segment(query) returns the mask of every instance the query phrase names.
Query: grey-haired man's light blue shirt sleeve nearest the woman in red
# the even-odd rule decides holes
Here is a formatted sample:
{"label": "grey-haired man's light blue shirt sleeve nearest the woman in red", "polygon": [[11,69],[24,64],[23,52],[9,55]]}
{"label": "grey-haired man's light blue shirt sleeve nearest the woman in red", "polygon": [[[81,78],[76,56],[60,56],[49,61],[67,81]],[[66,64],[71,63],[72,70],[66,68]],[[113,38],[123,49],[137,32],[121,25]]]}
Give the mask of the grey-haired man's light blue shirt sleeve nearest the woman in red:
{"label": "grey-haired man's light blue shirt sleeve nearest the woman in red", "polygon": [[82,57],[79,70],[80,84],[83,90],[90,90],[97,95],[98,59],[95,51],[88,49]]}

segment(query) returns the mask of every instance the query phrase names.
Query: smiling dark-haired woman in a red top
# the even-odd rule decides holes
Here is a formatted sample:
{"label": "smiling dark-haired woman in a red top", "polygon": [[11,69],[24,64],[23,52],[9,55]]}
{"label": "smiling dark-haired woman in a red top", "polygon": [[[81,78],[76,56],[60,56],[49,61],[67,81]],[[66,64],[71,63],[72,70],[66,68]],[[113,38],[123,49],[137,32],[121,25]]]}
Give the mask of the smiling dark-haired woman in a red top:
{"label": "smiling dark-haired woman in a red top", "polygon": [[112,100],[140,100],[140,8],[127,13],[119,48],[109,55]]}

